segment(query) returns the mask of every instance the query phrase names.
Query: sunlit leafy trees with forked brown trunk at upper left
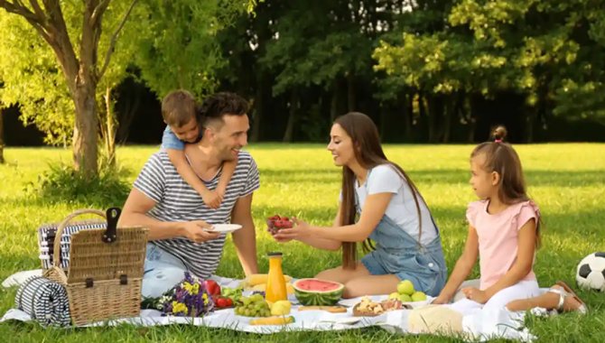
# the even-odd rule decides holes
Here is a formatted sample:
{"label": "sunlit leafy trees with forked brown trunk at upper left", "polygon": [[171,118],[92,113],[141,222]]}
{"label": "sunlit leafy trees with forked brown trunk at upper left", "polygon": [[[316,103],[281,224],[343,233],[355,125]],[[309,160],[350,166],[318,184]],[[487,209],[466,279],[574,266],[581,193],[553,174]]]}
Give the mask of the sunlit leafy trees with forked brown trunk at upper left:
{"label": "sunlit leafy trees with forked brown trunk at upper left", "polygon": [[[162,97],[172,88],[201,95],[221,64],[213,36],[255,0],[132,2],[0,1],[0,103],[19,104],[25,124],[48,144],[71,144],[79,168],[97,172],[100,133],[113,159],[112,89],[139,70]],[[130,17],[130,20],[127,20]],[[119,39],[118,39],[119,38]],[[100,129],[100,132],[98,128]]]}

